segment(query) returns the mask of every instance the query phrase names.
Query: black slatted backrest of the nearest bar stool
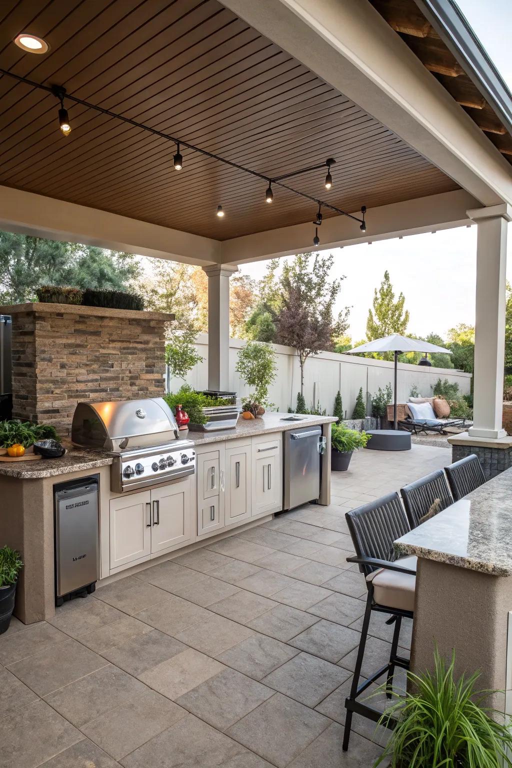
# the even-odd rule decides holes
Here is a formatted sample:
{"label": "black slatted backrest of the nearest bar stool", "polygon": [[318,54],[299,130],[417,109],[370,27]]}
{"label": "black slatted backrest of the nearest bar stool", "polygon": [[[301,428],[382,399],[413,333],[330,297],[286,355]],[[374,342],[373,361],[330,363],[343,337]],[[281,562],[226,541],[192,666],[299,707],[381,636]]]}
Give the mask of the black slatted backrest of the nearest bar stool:
{"label": "black slatted backrest of the nearest bar stool", "polygon": [[[393,541],[411,530],[400,497],[395,491],[345,514],[358,557],[395,560]],[[366,576],[376,568],[359,565]]]}

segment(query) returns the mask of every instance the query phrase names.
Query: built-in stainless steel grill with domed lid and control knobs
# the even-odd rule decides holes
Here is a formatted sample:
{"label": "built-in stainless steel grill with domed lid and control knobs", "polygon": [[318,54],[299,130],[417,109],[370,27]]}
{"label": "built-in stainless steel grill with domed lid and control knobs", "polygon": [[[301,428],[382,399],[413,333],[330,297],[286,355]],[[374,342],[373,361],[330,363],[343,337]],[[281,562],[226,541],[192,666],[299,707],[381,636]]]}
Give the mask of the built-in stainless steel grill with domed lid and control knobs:
{"label": "built-in stainless steel grill with domed lid and control knobs", "polygon": [[163,398],[79,402],[71,427],[74,445],[114,456],[115,493],[193,475],[194,444],[178,435],[176,419]]}

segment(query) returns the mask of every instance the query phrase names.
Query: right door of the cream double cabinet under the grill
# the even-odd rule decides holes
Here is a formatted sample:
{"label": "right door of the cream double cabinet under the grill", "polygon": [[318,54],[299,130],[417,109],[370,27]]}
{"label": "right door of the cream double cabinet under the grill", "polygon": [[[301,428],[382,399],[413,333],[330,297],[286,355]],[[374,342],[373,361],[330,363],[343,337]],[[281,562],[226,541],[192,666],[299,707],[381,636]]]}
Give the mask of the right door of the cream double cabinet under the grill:
{"label": "right door of the cream double cabinet under the grill", "polygon": [[[192,475],[193,476],[193,475]],[[192,538],[190,477],[151,490],[151,553]]]}

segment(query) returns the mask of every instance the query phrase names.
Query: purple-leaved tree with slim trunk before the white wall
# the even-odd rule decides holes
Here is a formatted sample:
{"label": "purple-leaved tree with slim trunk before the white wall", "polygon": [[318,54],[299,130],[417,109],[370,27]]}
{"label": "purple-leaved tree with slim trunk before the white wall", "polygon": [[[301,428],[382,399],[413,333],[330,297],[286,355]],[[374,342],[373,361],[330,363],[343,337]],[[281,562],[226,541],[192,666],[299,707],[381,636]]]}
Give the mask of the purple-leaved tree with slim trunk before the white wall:
{"label": "purple-leaved tree with slim trunk before the white wall", "polygon": [[333,348],[333,338],[348,327],[348,308],[334,318],[342,280],[329,281],[333,257],[299,253],[282,268],[281,300],[276,316],[276,342],[296,349],[300,392],[304,394],[304,366],[309,356]]}

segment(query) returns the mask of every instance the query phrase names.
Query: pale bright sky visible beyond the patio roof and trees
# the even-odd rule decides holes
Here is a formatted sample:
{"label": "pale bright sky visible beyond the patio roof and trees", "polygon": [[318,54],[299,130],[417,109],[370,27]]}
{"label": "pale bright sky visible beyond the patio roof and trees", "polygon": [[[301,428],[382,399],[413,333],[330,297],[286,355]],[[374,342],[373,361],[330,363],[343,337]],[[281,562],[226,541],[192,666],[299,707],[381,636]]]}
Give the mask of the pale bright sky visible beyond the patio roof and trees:
{"label": "pale bright sky visible beyond the patio roof and trees", "polygon": [[[512,91],[512,0],[457,2]],[[512,223],[508,229],[507,278],[512,283]],[[424,336],[433,331],[445,336],[459,323],[474,325],[476,247],[477,228],[461,227],[331,250],[335,260],[332,276],[345,275],[339,309],[352,306],[352,340],[365,338],[373,291],[385,270],[396,295],[404,293],[410,333]],[[240,271],[259,278],[265,264],[242,264]]]}

